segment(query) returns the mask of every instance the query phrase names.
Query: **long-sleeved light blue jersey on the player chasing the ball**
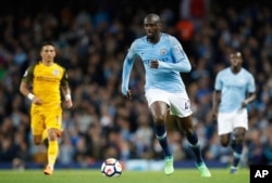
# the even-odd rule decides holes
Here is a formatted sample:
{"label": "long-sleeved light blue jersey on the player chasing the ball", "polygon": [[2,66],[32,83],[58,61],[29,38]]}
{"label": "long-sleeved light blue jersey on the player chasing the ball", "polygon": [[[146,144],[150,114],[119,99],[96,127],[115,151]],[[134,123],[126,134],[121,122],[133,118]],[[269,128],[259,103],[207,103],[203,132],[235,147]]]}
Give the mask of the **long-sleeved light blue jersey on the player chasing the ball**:
{"label": "long-sleeved light blue jersey on the player chasing the ball", "polygon": [[[190,71],[188,57],[176,38],[161,34],[160,41],[156,44],[149,42],[147,36],[138,38],[132,43],[123,65],[123,94],[126,94],[128,90],[129,75],[137,56],[140,56],[146,70],[145,90],[186,91],[180,71]],[[150,68],[151,60],[159,61],[159,68]]]}

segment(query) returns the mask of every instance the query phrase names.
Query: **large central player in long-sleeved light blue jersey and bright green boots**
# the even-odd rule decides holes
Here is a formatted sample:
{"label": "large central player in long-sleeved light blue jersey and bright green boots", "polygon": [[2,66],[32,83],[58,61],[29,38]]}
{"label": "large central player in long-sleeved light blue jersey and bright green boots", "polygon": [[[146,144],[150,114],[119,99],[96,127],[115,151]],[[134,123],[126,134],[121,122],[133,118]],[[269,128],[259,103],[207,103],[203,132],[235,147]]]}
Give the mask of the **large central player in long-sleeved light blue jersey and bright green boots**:
{"label": "large central player in long-sleeved light blue jersey and bright green boots", "polygon": [[144,19],[146,36],[136,39],[125,57],[122,75],[122,93],[132,99],[128,89],[129,75],[134,60],[139,56],[145,66],[145,94],[154,121],[156,136],[165,156],[165,174],[174,172],[174,158],[168,146],[165,121],[168,112],[177,119],[183,132],[196,155],[196,166],[202,177],[211,177],[203,162],[198,136],[191,121],[191,109],[188,95],[180,71],[191,69],[187,55],[176,38],[161,32],[161,21],[157,14],[148,14]]}

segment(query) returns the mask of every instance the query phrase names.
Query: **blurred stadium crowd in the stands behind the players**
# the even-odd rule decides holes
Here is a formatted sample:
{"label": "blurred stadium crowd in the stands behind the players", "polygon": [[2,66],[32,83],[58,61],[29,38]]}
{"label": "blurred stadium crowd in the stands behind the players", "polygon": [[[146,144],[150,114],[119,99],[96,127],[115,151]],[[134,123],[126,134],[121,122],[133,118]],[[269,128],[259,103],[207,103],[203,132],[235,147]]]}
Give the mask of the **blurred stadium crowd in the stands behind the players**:
{"label": "blurred stadium crowd in the stands behind the players", "polygon": [[[190,2],[194,0],[188,0]],[[129,43],[144,35],[143,17],[161,15],[164,31],[175,35],[193,64],[185,83],[203,156],[230,161],[221,147],[211,105],[215,74],[228,66],[231,50],[239,49],[244,66],[257,83],[257,101],[249,107],[249,130],[243,164],[272,165],[272,12],[261,3],[239,5],[197,1],[110,0],[38,2],[35,9],[10,3],[0,12],[0,164],[46,162],[45,145],[35,146],[29,131],[29,101],[18,92],[21,77],[39,61],[39,45],[53,40],[57,61],[70,76],[72,109],[63,110],[63,135],[58,162],[87,166],[106,157],[157,159],[162,151],[153,135],[144,97],[140,63],[132,73],[133,100],[121,94],[123,60]],[[201,2],[206,2],[201,4]],[[251,1],[249,1],[251,2]],[[224,3],[224,2],[221,2]],[[54,4],[54,5],[53,5]],[[2,5],[1,5],[2,6]],[[122,9],[122,10],[121,10]],[[182,10],[191,10],[184,12]],[[191,159],[188,144],[170,132],[176,160]],[[183,142],[181,144],[181,142]]]}

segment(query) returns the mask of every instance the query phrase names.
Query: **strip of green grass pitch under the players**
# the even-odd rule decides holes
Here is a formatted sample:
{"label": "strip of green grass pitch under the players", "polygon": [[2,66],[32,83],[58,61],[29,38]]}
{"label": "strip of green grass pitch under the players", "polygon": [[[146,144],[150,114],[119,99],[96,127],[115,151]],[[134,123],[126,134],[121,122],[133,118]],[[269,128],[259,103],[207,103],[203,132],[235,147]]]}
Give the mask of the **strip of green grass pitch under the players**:
{"label": "strip of green grass pitch under the players", "polygon": [[174,174],[163,171],[126,171],[120,178],[104,178],[96,169],[55,169],[51,177],[42,170],[0,170],[1,183],[249,183],[249,169],[230,174],[227,169],[210,169],[211,178],[201,178],[197,169],[175,169]]}

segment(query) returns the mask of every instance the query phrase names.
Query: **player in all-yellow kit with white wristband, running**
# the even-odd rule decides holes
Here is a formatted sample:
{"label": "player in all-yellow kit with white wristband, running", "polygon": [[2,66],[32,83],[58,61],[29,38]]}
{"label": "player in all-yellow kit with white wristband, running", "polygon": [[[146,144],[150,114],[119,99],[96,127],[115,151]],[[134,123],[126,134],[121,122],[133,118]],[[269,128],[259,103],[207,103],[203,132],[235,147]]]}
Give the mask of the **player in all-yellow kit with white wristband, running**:
{"label": "player in all-yellow kit with white wristband, running", "polygon": [[61,92],[67,108],[73,103],[66,70],[54,63],[53,43],[44,43],[40,56],[40,62],[26,69],[20,92],[32,101],[30,127],[34,143],[38,145],[48,136],[48,166],[44,173],[51,175],[59,154],[58,138],[62,130]]}

